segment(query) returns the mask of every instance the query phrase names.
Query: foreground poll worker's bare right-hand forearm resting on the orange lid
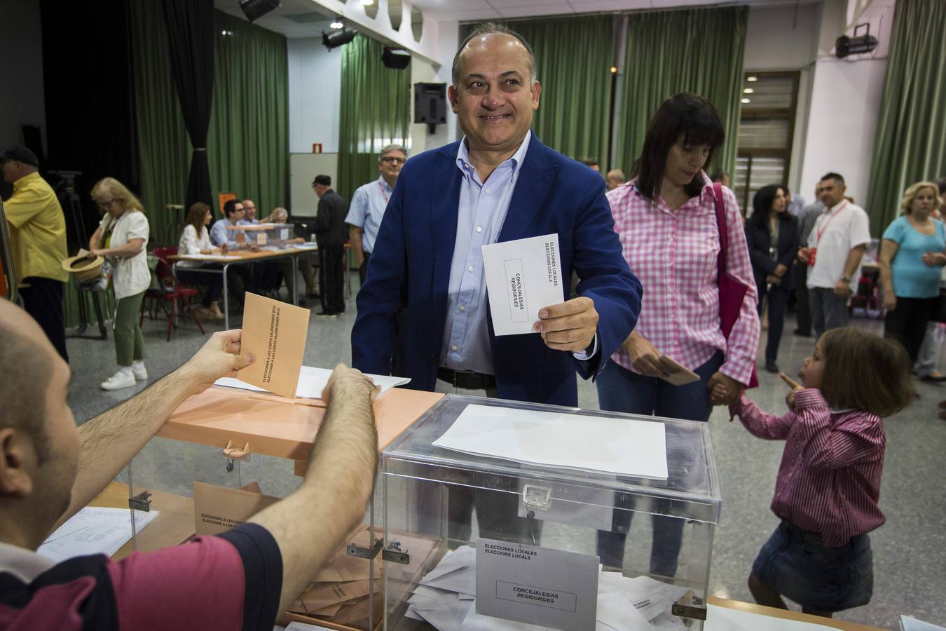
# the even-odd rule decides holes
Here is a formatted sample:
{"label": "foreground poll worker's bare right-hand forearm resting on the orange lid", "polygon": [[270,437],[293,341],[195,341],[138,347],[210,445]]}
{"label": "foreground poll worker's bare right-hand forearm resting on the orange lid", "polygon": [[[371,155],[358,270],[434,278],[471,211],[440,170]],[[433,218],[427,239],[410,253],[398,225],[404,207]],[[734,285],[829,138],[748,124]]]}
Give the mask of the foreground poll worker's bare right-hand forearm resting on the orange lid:
{"label": "foreground poll worker's bare right-hand forearm resting on the orange lid", "polygon": [[364,516],[377,472],[375,393],[359,371],[336,367],[324,390],[328,409],[306,479],[249,520],[270,532],[283,557],[279,611],[287,610]]}

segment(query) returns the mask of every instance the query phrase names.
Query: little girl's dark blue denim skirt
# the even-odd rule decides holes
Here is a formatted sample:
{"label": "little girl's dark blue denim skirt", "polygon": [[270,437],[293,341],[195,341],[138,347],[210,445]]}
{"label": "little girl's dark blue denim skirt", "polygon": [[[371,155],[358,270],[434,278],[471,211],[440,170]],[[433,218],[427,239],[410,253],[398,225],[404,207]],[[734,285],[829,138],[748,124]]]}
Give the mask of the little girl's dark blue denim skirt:
{"label": "little girl's dark blue denim skirt", "polygon": [[874,589],[870,538],[856,535],[840,548],[826,548],[821,535],[782,519],[752,573],[807,609],[827,613],[867,605]]}

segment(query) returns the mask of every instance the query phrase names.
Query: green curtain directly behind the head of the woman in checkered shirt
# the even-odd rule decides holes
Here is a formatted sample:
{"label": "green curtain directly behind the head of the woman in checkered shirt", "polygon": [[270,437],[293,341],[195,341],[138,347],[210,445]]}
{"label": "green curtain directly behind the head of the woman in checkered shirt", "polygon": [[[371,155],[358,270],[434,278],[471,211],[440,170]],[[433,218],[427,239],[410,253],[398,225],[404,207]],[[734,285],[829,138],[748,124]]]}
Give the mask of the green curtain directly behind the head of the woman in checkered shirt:
{"label": "green curtain directly behind the head of the woman in checkered shirt", "polygon": [[614,167],[630,175],[651,116],[668,97],[692,92],[716,107],[726,129],[713,167],[735,170],[748,14],[741,6],[628,16]]}

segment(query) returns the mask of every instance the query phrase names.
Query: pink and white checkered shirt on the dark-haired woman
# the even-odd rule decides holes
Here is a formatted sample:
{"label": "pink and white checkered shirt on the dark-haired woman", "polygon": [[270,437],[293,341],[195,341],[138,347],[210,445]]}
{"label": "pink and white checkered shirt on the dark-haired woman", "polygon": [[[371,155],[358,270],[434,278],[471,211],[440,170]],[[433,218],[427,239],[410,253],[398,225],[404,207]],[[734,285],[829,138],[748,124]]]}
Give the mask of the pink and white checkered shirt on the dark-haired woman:
{"label": "pink and white checkered shirt on the dark-haired woman", "polygon": [[[700,175],[709,182],[705,174]],[[748,383],[756,364],[760,327],[756,284],[736,196],[723,188],[729,232],[727,272],[743,281],[749,290],[728,342],[719,324],[716,255],[720,241],[712,185],[704,186],[699,197],[675,212],[662,198],[651,202],[641,195],[634,181],[610,191],[607,200],[624,258],[644,289],[635,330],[653,343],[658,352],[691,370],[721,350],[726,354],[722,373]],[[611,359],[627,370],[634,370],[623,348]]]}

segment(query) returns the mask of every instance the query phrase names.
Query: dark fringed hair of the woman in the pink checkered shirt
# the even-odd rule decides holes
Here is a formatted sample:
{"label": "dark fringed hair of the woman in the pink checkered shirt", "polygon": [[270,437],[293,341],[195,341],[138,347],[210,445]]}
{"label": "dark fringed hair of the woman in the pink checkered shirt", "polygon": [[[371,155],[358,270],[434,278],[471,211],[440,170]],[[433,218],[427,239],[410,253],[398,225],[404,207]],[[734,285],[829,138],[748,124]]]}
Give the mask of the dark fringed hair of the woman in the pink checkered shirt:
{"label": "dark fringed hair of the woman in the pink checkered shirt", "polygon": [[[726,132],[712,103],[702,96],[679,94],[668,98],[647,123],[647,135],[640,157],[634,163],[633,177],[638,190],[649,200],[656,200],[663,182],[667,154],[677,142],[683,145],[709,145],[707,164],[723,144]],[[696,197],[706,183],[699,173],[687,184],[690,197]]]}

